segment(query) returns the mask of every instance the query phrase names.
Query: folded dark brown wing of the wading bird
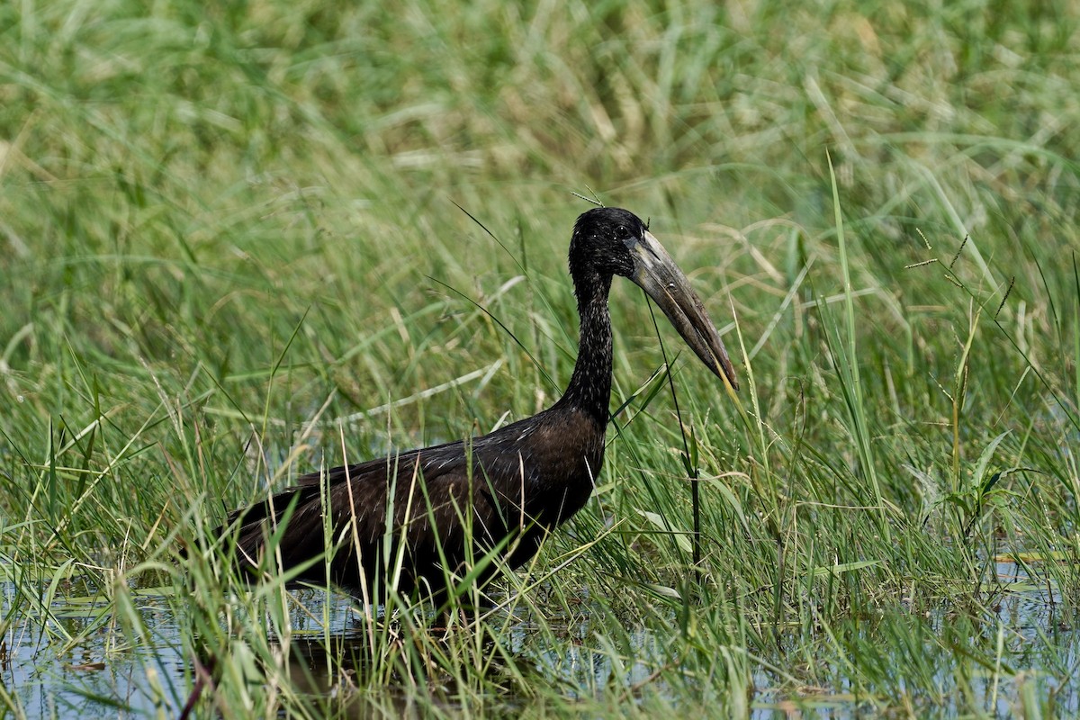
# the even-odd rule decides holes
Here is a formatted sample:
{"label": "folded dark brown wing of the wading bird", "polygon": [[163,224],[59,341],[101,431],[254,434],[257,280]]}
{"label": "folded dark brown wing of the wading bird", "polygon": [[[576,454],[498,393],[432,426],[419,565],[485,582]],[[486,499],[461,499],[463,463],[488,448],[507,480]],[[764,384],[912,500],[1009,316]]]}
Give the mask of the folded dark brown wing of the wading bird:
{"label": "folded dark brown wing of the wading bird", "polygon": [[[280,532],[274,546],[281,567],[293,568],[325,554],[328,530],[340,546],[333,572],[341,585],[359,587],[362,575],[372,580],[378,562],[365,556],[381,552],[388,556],[382,560],[392,560],[399,549],[407,553],[403,565],[410,575],[400,587],[407,589],[416,576],[441,579],[442,567],[464,559],[467,539],[492,545],[508,533],[510,518],[490,480],[503,461],[484,454],[490,457],[448,443],[305,475],[230,516],[229,525],[240,524],[237,557],[258,567],[267,538]],[[297,580],[320,582],[323,571],[315,562]]]}

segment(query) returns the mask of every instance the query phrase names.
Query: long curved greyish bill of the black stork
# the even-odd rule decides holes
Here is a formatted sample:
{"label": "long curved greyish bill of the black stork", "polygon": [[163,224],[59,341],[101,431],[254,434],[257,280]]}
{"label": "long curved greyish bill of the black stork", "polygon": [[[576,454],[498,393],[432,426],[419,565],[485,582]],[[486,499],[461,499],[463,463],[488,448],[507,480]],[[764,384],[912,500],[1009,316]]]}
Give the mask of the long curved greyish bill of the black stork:
{"label": "long curved greyish bill of the black stork", "polygon": [[631,280],[649,294],[667,315],[690,349],[716,377],[739,390],[735,370],[728,359],[720,334],[705,313],[705,307],[690,288],[690,281],[652,233],[646,231],[631,248],[634,274]]}

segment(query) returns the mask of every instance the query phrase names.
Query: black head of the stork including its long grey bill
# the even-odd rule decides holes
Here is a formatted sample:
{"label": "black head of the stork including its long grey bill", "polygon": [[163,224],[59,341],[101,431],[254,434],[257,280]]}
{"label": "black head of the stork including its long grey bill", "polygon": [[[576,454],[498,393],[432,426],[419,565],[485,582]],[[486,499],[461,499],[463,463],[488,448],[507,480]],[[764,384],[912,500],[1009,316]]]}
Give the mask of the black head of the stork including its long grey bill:
{"label": "black head of the stork including its long grey bill", "polygon": [[739,389],[713,321],[690,282],[642,219],[620,207],[594,207],[573,226],[570,272],[629,277],[660,307],[705,367]]}

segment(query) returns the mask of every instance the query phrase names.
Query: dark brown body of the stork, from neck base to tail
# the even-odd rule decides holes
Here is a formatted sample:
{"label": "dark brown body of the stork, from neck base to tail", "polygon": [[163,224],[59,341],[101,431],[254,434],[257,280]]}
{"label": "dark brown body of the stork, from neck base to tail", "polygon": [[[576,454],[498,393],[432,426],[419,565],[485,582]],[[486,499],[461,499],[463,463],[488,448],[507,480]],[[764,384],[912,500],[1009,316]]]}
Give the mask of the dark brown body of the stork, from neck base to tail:
{"label": "dark brown body of the stork, from neck base to tail", "polygon": [[508,562],[517,567],[589,498],[603,432],[582,427],[566,418],[557,424],[531,418],[465,443],[305,475],[234,513],[217,534],[232,528],[239,562],[248,568],[260,566],[267,538],[274,536],[280,566],[307,565],[295,579],[311,582],[326,576],[319,558],[329,544],[332,579],[352,589],[370,586],[395,562],[402,592],[421,580],[445,587],[445,569],[458,571],[503,542],[511,543]]}

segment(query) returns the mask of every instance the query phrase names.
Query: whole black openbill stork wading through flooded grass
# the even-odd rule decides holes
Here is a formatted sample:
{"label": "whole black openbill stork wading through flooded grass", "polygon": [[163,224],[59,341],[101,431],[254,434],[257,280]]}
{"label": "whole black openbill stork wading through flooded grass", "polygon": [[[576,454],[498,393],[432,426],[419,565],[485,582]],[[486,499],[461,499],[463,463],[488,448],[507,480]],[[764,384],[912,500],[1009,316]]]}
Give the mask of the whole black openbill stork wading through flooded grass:
{"label": "whole black openbill stork wading through flooded grass", "polygon": [[447,571],[463,576],[468,562],[492,551],[512,568],[531,558],[544,535],[585,504],[604,462],[615,275],[644,288],[701,362],[738,388],[701,300],[637,216],[615,207],[581,215],[569,266],[581,340],[557,403],[489,435],[299,478],[296,487],[233,513],[217,530],[235,538],[237,563],[260,567],[267,539],[278,532],[276,557],[261,567],[280,563],[296,580],[325,582],[328,527],[336,547],[329,580],[376,602],[390,584],[403,594],[443,596]]}

